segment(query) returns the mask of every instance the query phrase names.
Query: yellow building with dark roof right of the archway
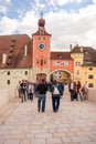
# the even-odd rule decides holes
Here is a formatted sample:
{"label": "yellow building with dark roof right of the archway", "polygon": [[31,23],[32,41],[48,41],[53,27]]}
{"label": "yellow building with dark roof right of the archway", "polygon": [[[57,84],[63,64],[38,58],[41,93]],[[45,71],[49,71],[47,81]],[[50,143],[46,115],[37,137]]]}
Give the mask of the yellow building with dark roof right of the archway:
{"label": "yellow building with dark roof right of the archway", "polygon": [[96,50],[76,45],[71,50],[74,60],[74,81],[86,82],[88,89],[96,89]]}

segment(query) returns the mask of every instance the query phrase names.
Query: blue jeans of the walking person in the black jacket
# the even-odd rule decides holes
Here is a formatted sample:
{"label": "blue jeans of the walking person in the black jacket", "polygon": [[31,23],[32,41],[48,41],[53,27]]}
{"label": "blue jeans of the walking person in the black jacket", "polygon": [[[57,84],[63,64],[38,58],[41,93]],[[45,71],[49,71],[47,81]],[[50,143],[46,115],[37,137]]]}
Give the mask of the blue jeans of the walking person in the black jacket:
{"label": "blue jeans of the walking person in the black jacket", "polygon": [[45,103],[46,103],[46,95],[45,94],[38,94],[38,109],[42,112],[45,111]]}

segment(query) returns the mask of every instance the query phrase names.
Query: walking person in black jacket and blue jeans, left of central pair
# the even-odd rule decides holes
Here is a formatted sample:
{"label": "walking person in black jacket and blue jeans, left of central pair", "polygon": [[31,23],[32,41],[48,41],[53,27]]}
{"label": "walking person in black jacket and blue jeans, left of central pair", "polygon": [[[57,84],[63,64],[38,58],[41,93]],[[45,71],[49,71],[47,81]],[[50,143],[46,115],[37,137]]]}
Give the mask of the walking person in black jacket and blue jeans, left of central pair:
{"label": "walking person in black jacket and blue jeans, left of central pair", "polygon": [[38,92],[38,111],[45,112],[47,85],[44,80],[38,84],[35,91]]}

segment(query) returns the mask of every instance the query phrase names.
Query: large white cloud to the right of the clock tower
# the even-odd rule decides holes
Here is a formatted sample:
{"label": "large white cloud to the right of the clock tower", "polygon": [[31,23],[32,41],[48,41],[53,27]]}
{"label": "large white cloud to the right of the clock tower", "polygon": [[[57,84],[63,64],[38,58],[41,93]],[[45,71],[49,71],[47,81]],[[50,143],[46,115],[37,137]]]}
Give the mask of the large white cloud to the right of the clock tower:
{"label": "large white cloud to the right of the clock tower", "polygon": [[[96,48],[96,6],[81,9],[78,13],[50,12],[46,28],[52,33],[52,49],[67,50],[72,43]],[[55,44],[53,44],[55,43]]]}

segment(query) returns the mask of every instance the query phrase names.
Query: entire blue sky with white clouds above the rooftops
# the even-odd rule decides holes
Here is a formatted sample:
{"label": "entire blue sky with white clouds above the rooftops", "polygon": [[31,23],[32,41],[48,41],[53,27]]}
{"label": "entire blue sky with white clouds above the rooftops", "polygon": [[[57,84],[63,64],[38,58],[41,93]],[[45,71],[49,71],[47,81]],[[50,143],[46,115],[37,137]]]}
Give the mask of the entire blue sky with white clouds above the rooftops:
{"label": "entire blue sky with white clouds above the rooftops", "polygon": [[43,12],[52,51],[96,49],[96,0],[0,0],[0,35],[36,32]]}

